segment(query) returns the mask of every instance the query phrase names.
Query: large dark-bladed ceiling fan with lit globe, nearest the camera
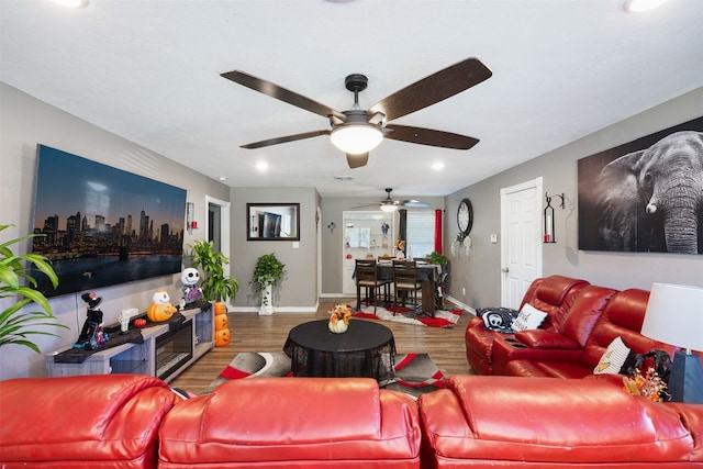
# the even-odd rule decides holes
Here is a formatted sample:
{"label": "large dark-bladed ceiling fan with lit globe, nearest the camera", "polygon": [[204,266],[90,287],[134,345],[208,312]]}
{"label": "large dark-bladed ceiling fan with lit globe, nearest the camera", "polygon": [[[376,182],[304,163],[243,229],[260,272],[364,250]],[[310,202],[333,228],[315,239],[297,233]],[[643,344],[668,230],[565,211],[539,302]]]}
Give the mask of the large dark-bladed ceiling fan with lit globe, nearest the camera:
{"label": "large dark-bladed ceiling fan with lit globe, nearest the camera", "polygon": [[221,76],[235,83],[243,85],[330,120],[330,130],[268,138],[242,145],[242,148],[261,148],[320,135],[330,135],[332,143],[346,153],[349,167],[358,168],[368,163],[369,152],[376,148],[383,138],[443,148],[471,148],[479,142],[478,138],[431,129],[389,124],[389,122],[465,91],[487,80],[491,75],[493,75],[491,70],[478,58],[467,58],[415,81],[380,100],[368,110],[364,110],[359,105],[359,92],[367,88],[368,78],[361,74],[353,74],[345,79],[346,89],[354,92],[354,105],[346,111],[336,111],[325,104],[244,71],[232,70]]}

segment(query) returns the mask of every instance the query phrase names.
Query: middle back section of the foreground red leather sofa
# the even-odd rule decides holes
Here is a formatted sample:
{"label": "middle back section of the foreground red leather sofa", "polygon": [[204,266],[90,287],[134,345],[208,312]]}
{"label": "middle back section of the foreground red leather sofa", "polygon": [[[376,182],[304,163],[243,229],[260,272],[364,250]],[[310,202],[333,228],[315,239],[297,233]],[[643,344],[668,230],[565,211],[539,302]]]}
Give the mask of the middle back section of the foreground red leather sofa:
{"label": "middle back section of the foreground red leather sofa", "polygon": [[372,379],[239,379],[166,416],[159,468],[399,468],[419,462],[420,436],[413,399]]}

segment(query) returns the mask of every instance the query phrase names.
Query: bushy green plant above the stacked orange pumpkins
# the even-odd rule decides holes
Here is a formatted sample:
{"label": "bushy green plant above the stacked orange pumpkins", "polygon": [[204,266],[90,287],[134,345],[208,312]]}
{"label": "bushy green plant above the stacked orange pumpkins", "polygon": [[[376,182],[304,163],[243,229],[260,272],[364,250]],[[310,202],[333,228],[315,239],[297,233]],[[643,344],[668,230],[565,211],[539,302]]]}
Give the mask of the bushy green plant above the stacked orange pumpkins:
{"label": "bushy green plant above the stacked orange pumpkins", "polygon": [[208,301],[226,301],[227,298],[234,301],[239,290],[239,282],[233,276],[224,275],[224,266],[230,264],[230,259],[213,250],[212,242],[199,241],[193,245],[188,245],[192,252],[190,258],[194,268],[200,268],[204,273],[201,289],[202,295]]}

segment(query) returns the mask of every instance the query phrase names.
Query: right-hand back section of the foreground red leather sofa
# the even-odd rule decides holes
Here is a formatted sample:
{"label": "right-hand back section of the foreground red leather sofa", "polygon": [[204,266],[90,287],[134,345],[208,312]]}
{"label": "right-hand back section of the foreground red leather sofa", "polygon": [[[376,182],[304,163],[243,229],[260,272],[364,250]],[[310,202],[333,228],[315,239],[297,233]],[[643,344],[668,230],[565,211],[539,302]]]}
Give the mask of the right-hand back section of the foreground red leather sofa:
{"label": "right-hand back section of the foreground red leather sofa", "polygon": [[683,464],[696,445],[676,410],[596,380],[523,379],[520,392],[510,377],[454,376],[447,384],[419,399],[426,453],[446,467],[649,467]]}

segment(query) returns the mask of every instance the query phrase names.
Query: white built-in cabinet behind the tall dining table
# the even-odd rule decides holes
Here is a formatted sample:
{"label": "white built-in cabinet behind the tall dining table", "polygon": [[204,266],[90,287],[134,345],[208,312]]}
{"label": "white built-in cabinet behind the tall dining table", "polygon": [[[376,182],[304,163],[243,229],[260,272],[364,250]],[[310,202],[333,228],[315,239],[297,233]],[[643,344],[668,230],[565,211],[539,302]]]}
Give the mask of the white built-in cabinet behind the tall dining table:
{"label": "white built-in cabinet behind the tall dining table", "polygon": [[342,292],[356,294],[354,268],[356,259],[393,257],[393,213],[383,211],[343,212],[344,236],[342,253]]}

